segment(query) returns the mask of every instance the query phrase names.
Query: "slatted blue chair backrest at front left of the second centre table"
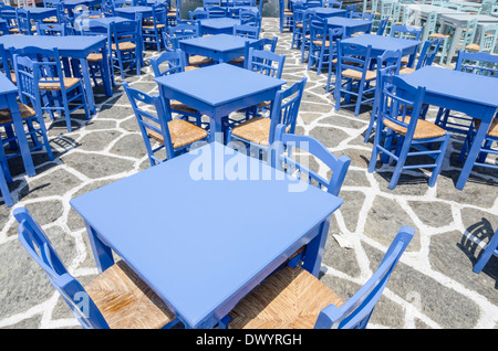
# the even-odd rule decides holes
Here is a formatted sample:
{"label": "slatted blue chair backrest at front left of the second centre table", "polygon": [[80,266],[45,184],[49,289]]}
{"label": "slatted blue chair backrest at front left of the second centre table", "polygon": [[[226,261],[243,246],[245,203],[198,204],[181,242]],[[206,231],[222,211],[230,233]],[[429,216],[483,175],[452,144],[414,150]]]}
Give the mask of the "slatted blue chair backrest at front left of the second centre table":
{"label": "slatted blue chair backrest at front left of the second centre table", "polygon": [[[173,149],[167,124],[172,120],[169,104],[165,104],[158,95],[151,96],[144,92],[129,87],[127,82],[123,82],[123,86],[138,121],[138,127],[141,128],[145,148],[147,149],[151,166],[153,167],[163,162],[162,159],[155,156],[155,152],[163,148],[166,150],[166,159],[169,160],[174,158],[175,151]],[[156,115],[152,114],[149,110],[155,110]],[[164,140],[164,145],[153,148],[149,137],[154,138],[154,136],[160,137]]]}

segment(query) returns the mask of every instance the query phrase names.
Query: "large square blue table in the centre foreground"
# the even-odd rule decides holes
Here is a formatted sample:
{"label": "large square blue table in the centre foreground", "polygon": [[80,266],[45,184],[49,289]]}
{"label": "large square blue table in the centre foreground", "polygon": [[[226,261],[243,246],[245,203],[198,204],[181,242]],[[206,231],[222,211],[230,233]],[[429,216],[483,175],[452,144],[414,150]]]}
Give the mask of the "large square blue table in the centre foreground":
{"label": "large square blue table in the centre foreground", "polygon": [[[235,160],[247,172],[230,180]],[[251,176],[260,173],[267,178]],[[304,268],[318,276],[330,220],[342,200],[298,183],[215,142],[71,205],[86,223],[98,270],[114,263],[114,251],[186,328],[211,328],[303,245]],[[302,191],[292,191],[294,185]],[[247,212],[261,203],[269,211]]]}

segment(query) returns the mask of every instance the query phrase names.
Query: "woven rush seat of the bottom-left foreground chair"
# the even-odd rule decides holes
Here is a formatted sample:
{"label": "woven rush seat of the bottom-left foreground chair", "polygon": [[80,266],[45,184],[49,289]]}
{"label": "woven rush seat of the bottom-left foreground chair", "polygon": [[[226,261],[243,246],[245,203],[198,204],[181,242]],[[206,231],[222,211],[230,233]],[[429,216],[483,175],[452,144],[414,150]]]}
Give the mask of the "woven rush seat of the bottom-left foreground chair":
{"label": "woven rush seat of the bottom-left foreground chair", "polygon": [[100,274],[85,290],[111,329],[159,329],[175,319],[166,304],[123,260]]}

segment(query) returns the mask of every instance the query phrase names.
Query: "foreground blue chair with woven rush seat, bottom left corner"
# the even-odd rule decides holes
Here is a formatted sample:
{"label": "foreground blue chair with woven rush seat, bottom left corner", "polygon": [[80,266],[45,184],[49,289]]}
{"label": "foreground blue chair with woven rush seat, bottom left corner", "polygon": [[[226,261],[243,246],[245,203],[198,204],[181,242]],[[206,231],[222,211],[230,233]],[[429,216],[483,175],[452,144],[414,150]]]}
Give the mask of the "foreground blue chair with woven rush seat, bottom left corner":
{"label": "foreground blue chair with woven rush seat, bottom left corner", "polygon": [[123,260],[84,287],[65,268],[52,243],[25,208],[13,211],[19,241],[43,268],[84,329],[159,329],[178,322],[158,296]]}

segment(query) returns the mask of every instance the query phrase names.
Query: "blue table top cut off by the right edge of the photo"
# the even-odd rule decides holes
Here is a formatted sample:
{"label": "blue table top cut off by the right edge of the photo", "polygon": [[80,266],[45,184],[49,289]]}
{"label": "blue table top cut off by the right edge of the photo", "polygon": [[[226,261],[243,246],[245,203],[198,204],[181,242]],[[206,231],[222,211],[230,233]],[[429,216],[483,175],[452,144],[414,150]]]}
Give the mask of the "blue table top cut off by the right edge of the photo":
{"label": "blue table top cut off by the right edge of the photo", "polygon": [[427,92],[498,108],[498,79],[477,74],[425,66],[402,76],[413,86]]}

